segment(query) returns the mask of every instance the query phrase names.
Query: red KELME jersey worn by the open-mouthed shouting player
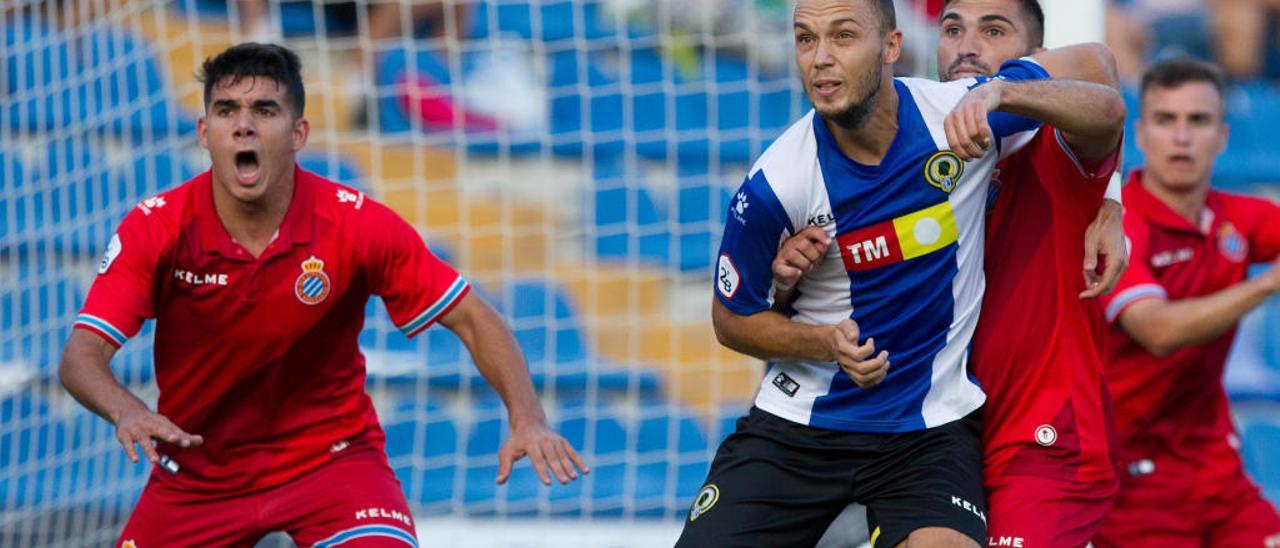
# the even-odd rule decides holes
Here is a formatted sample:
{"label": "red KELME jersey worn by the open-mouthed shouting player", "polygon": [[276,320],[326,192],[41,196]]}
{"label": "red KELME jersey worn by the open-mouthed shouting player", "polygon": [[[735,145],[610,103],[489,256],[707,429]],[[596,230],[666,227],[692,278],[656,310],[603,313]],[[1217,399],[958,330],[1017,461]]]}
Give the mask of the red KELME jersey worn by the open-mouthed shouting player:
{"label": "red KELME jersey worn by the open-mouthed shouting player", "polygon": [[279,233],[255,260],[223,228],[205,172],[124,218],[76,326],[120,346],[156,319],[159,412],[205,443],[161,444],[180,470],[152,479],[234,496],[348,446],[381,448],[356,347],[366,301],[381,296],[412,337],[467,291],[390,209],[297,168]]}

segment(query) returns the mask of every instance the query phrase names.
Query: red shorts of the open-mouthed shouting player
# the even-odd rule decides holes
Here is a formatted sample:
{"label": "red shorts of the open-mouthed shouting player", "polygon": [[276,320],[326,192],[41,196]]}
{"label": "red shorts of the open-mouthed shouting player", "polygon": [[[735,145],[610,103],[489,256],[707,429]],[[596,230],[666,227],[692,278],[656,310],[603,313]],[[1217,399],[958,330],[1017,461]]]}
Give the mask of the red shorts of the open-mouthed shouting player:
{"label": "red shorts of the open-mouthed shouting player", "polygon": [[416,547],[413,517],[387,457],[349,449],[284,485],[193,498],[147,481],[116,547],[251,547],[285,531],[300,547]]}

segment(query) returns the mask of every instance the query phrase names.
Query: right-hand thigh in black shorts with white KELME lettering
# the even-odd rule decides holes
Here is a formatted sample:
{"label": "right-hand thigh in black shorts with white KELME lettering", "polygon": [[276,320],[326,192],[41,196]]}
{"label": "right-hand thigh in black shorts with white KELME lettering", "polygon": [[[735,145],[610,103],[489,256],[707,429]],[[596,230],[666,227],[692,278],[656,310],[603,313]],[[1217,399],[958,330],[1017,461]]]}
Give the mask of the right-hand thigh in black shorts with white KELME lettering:
{"label": "right-hand thigh in black shorts with white KELME lettering", "polygon": [[[872,543],[897,545],[916,530],[945,529],[986,544],[982,458],[977,415],[895,437],[876,465],[858,475],[855,489],[867,503]],[[936,535],[950,536],[923,534]]]}

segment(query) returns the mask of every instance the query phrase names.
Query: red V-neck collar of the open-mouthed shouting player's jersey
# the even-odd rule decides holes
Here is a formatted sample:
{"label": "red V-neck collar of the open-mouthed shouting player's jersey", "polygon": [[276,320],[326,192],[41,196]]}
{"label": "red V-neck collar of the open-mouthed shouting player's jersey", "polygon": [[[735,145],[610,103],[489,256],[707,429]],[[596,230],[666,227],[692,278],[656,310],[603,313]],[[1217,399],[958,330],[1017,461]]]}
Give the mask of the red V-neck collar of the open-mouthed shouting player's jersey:
{"label": "red V-neck collar of the open-mouthed shouting player's jersey", "polygon": [[[311,220],[314,209],[315,174],[303,170],[297,164],[293,165],[293,197],[289,200],[289,210],[280,222],[276,233],[276,250],[288,250],[294,245],[311,242]],[[232,239],[232,236],[223,227],[214,209],[214,177],[210,168],[196,177],[196,223],[200,229],[200,247],[205,252],[216,252],[225,257],[241,257],[252,260],[252,256]],[[268,251],[260,259],[274,255]]]}

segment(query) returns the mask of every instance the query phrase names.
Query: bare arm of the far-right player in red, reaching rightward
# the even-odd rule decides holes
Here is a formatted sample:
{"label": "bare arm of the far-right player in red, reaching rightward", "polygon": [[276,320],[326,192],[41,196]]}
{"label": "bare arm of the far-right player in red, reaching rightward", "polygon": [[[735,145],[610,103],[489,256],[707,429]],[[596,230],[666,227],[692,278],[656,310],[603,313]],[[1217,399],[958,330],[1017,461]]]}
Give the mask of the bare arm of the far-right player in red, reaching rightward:
{"label": "bare arm of the far-right player in red, reaching rightward", "polygon": [[1276,292],[1280,292],[1280,257],[1262,275],[1217,293],[1178,301],[1137,301],[1120,312],[1119,323],[1148,352],[1164,357],[1222,335]]}

